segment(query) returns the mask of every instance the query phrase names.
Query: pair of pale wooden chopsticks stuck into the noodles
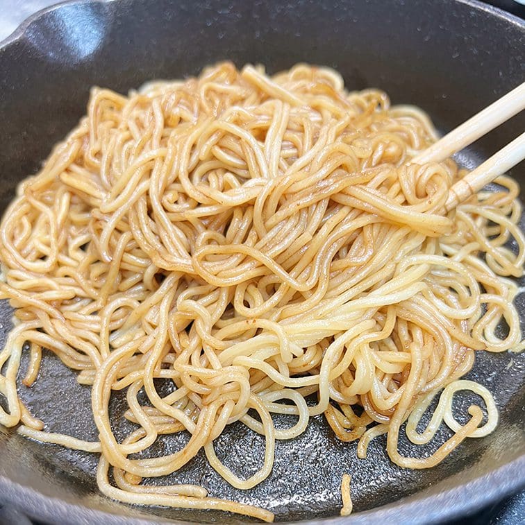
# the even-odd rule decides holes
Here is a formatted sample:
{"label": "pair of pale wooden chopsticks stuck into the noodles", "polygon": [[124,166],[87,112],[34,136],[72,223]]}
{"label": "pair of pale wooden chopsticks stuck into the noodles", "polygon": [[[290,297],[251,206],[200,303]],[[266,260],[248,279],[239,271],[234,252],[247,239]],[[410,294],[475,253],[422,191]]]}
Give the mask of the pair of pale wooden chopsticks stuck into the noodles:
{"label": "pair of pale wooden chopsticks stuck into the noodles", "polygon": [[[497,128],[501,123],[514,117],[525,109],[525,82],[511,92],[502,96],[496,102],[485,107],[484,110],[462,123],[455,130],[442,137],[430,148],[424,150],[412,160],[414,164],[440,162],[465,146]],[[492,182],[499,175],[503,175],[512,166],[525,159],[525,132],[516,137],[512,142],[501,148],[483,164],[458,180],[449,190],[449,198],[445,209],[449,212],[462,203],[485,184]]]}

